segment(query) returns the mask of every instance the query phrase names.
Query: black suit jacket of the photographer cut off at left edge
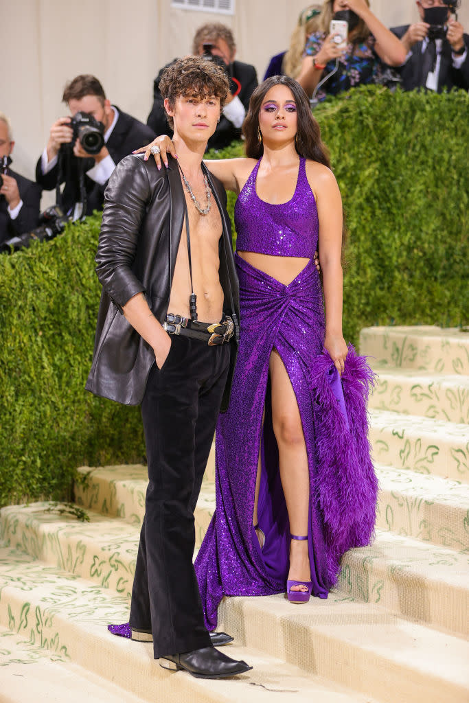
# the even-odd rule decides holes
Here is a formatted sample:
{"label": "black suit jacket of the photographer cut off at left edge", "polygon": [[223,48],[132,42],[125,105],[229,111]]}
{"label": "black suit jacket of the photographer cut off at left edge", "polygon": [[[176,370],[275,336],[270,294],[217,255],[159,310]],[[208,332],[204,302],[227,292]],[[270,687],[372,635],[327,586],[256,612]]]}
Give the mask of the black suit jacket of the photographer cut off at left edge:
{"label": "black suit jacket of the photographer cut off at left edge", "polygon": [[39,220],[41,186],[10,169],[8,169],[8,176],[13,176],[18,183],[23,207],[21,207],[18,217],[12,220],[8,214],[8,202],[6,202],[4,195],[0,195],[0,244],[18,234],[30,232],[37,227]]}

